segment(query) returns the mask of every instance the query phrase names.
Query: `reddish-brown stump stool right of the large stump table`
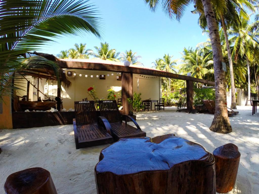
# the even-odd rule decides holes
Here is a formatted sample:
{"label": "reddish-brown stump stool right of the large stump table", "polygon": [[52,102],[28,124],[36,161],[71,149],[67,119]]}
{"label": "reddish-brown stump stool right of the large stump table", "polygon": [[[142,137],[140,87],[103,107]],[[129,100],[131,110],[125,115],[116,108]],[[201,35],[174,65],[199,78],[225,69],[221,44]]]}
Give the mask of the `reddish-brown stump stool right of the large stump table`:
{"label": "reddish-brown stump stool right of the large stump table", "polygon": [[213,151],[216,165],[216,186],[218,193],[226,193],[234,188],[240,152],[234,144],[225,144]]}

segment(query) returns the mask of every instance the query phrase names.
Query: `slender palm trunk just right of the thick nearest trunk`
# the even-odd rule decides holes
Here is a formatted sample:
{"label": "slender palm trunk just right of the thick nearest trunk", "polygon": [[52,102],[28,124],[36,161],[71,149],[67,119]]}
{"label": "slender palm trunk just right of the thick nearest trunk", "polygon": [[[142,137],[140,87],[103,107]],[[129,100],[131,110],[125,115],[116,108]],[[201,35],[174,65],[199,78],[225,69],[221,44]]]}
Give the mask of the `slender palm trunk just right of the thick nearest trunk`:
{"label": "slender palm trunk just right of the thick nearest trunk", "polygon": [[236,91],[235,91],[235,81],[234,81],[234,72],[233,72],[231,50],[230,50],[230,46],[229,46],[227,28],[226,28],[226,25],[225,25],[225,19],[224,19],[223,13],[220,14],[220,17],[221,17],[222,28],[223,28],[223,32],[224,32],[225,40],[226,40],[226,44],[227,44],[227,55],[228,55],[230,83],[231,83],[231,108],[236,109]]}

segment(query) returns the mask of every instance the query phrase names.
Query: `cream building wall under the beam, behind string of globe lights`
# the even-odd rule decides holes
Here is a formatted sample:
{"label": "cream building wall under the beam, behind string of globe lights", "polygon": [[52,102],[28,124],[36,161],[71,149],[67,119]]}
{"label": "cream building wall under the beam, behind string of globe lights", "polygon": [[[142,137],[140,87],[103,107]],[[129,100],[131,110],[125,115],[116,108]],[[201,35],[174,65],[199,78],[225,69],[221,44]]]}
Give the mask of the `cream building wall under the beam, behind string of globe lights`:
{"label": "cream building wall under the beam, behind string of globe lights", "polygon": [[[117,72],[107,72],[107,71],[91,71],[91,70],[73,70],[75,71],[76,76],[74,78],[68,78],[72,85],[69,89],[62,89],[62,101],[63,101],[63,108],[74,109],[74,101],[81,101],[83,98],[88,98],[88,100],[92,100],[91,97],[87,93],[87,89],[89,87],[93,87],[96,89],[97,97],[105,98],[109,92],[107,90],[113,89],[115,93],[121,93],[121,81],[117,80],[116,76],[121,76],[120,74],[117,74]],[[111,76],[111,74],[114,74]],[[79,76],[79,74],[82,74],[82,77]],[[106,79],[102,80],[96,77],[96,75],[106,75]],[[109,76],[107,76],[109,74]],[[88,75],[86,78],[85,75]],[[93,78],[90,76],[93,75]],[[152,100],[159,100],[160,95],[160,80],[159,77],[153,78],[140,78],[139,77],[139,89],[138,86],[138,74],[133,74],[133,92],[141,92],[142,93],[142,99],[149,99]],[[53,89],[52,89],[53,88]],[[53,83],[53,87],[51,84],[51,81],[48,82],[48,95],[49,97],[54,98],[56,97],[57,93],[57,85],[56,83]],[[52,95],[53,93],[53,95]],[[119,97],[121,98],[121,97]],[[117,98],[116,98],[117,100]]]}

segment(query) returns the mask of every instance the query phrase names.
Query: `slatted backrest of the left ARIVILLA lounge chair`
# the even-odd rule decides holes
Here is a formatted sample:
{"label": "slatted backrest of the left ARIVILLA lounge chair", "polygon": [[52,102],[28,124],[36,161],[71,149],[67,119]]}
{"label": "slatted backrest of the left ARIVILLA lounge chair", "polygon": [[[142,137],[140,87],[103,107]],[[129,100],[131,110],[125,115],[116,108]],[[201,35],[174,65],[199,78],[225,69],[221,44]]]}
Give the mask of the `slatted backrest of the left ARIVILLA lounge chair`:
{"label": "slatted backrest of the left ARIVILLA lounge chair", "polygon": [[97,123],[97,114],[94,101],[75,102],[76,125]]}

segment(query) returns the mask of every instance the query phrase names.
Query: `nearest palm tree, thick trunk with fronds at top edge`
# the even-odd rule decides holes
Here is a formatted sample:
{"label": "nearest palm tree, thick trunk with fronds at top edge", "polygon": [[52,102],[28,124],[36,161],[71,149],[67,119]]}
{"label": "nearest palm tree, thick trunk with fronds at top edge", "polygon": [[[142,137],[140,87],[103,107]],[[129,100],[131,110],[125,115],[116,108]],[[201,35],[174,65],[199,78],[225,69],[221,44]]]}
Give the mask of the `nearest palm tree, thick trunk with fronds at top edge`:
{"label": "nearest palm tree, thick trunk with fronds at top edge", "polygon": [[[186,7],[195,2],[195,6],[199,10],[203,10],[207,21],[207,26],[210,32],[210,39],[213,50],[213,65],[214,65],[214,78],[215,78],[215,96],[216,107],[215,114],[210,130],[218,133],[230,133],[232,127],[229,122],[227,114],[227,95],[225,84],[225,72],[222,70],[221,62],[223,61],[222,49],[220,44],[218,25],[215,20],[215,14],[212,7],[211,0],[178,0],[177,3],[174,0],[144,0],[149,5],[150,9],[155,11],[157,6],[161,4],[164,12],[169,15],[170,18],[176,18],[180,20],[186,10]],[[220,6],[222,1],[214,0],[213,3]]]}

